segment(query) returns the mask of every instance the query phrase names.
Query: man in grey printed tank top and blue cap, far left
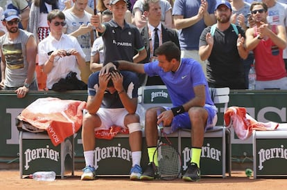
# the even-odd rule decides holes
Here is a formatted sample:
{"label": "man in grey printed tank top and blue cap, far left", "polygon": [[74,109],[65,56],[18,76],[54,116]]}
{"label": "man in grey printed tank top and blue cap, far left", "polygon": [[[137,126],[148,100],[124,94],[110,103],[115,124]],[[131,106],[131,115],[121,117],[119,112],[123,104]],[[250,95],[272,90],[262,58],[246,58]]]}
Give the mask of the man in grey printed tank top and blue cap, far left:
{"label": "man in grey printed tank top and blue cap, far left", "polygon": [[35,59],[37,44],[31,32],[19,29],[17,10],[6,9],[1,18],[7,31],[0,38],[1,83],[5,91],[15,91],[22,98],[29,90],[37,90]]}

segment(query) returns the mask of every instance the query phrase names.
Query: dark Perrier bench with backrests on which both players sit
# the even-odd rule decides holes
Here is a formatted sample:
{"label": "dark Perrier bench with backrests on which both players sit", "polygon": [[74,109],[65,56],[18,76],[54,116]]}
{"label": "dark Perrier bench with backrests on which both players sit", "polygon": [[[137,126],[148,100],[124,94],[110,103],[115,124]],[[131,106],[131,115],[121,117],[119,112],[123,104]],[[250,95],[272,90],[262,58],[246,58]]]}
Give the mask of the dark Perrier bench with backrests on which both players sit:
{"label": "dark Perrier bench with backrests on which both players sit", "polygon": [[[224,104],[223,109],[226,110],[229,102],[229,88],[218,88],[213,91],[213,96],[214,102]],[[139,109],[153,106],[172,106],[166,86],[141,86],[139,88]],[[144,113],[139,113],[139,115],[141,120],[144,120]],[[177,131],[169,134],[168,138],[182,155],[183,169],[186,169],[186,164],[190,160],[190,131]],[[141,156],[143,169],[147,163],[148,155],[143,131]],[[112,140],[96,139],[95,167],[97,175],[129,175],[131,164],[128,135],[118,134]],[[226,172],[231,175],[230,132],[224,125],[216,126],[214,130],[205,133],[200,169],[202,175],[222,175],[223,178],[225,178]]]}

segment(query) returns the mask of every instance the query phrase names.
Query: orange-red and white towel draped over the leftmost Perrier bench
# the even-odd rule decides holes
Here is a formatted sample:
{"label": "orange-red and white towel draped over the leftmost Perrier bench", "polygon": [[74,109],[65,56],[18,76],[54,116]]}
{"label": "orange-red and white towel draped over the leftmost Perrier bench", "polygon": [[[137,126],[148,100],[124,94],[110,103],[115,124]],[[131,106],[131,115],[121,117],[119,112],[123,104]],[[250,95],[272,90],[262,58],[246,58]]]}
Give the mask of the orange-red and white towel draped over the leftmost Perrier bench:
{"label": "orange-red and white towel draped over the leftmost Perrier bench", "polygon": [[82,110],[86,102],[56,97],[39,98],[27,106],[19,119],[38,129],[45,129],[57,146],[82,126]]}

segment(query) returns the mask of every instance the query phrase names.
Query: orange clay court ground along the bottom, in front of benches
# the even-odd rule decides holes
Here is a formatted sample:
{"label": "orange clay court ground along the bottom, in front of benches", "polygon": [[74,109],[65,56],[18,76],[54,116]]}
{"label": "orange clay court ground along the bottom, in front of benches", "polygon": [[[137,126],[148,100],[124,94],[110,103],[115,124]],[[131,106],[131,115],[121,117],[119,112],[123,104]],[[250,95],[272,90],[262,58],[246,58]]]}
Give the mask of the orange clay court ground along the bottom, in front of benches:
{"label": "orange clay court ground along the bottom, in front of benches", "polygon": [[232,177],[225,179],[208,176],[200,182],[184,182],[180,179],[173,181],[130,181],[128,178],[98,178],[93,181],[81,181],[82,171],[76,171],[75,176],[65,179],[56,178],[53,182],[39,182],[32,179],[21,179],[19,171],[0,170],[0,189],[286,189],[287,178],[247,178],[243,171],[233,171]]}

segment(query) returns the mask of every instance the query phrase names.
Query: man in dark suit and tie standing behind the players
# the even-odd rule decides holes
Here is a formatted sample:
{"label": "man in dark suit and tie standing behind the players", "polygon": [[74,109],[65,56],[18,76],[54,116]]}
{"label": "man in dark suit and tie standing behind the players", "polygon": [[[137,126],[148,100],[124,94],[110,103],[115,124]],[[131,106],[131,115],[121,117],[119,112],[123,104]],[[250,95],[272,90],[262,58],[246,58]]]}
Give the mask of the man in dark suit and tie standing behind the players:
{"label": "man in dark suit and tie standing behind the players", "polygon": [[[140,63],[156,61],[157,57],[154,55],[155,49],[166,41],[173,41],[180,48],[176,30],[166,28],[161,22],[162,10],[159,6],[159,0],[145,1],[143,11],[143,14],[148,18],[147,25],[141,30],[147,57]],[[158,76],[146,77],[146,75],[140,75],[139,80],[142,86],[164,84]]]}

